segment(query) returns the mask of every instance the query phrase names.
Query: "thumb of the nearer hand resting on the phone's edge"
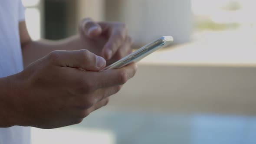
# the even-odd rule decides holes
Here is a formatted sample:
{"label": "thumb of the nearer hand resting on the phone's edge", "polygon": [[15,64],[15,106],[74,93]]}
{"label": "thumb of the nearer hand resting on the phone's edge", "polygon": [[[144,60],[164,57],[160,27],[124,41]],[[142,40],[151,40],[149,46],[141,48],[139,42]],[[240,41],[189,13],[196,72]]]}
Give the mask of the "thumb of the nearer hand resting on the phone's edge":
{"label": "thumb of the nearer hand resting on the phone's edge", "polygon": [[75,51],[53,51],[49,54],[49,57],[55,65],[89,71],[100,71],[106,65],[104,58],[97,56],[86,49]]}

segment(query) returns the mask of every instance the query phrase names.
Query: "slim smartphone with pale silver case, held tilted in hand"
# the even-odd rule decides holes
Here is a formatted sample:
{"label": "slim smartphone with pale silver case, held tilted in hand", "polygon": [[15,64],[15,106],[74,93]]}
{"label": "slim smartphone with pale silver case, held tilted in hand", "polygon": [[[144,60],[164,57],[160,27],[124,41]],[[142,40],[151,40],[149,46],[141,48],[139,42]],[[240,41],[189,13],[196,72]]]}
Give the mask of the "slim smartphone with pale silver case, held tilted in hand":
{"label": "slim smartphone with pale silver case, held tilted in hand", "polygon": [[113,63],[112,65],[105,67],[105,69],[103,69],[103,70],[119,69],[125,65],[130,64],[131,62],[138,62],[141,59],[143,59],[144,57],[157,51],[158,49],[168,46],[172,42],[173,42],[172,36],[163,36],[163,37],[156,39],[153,42],[147,44],[146,46],[143,46],[142,48],[136,50],[135,52],[132,52],[130,55],[125,56],[123,59],[118,60],[117,62]]}

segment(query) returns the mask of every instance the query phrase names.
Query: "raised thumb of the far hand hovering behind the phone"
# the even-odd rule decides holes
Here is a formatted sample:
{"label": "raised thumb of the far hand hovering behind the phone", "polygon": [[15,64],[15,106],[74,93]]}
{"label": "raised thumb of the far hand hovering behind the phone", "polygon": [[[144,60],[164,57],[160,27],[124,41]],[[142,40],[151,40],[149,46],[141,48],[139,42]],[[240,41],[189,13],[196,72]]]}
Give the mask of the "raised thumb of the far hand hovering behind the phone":
{"label": "raised thumb of the far hand hovering behind the phone", "polygon": [[80,24],[81,33],[84,33],[90,38],[99,36],[102,33],[102,27],[95,23],[91,18],[82,20]]}

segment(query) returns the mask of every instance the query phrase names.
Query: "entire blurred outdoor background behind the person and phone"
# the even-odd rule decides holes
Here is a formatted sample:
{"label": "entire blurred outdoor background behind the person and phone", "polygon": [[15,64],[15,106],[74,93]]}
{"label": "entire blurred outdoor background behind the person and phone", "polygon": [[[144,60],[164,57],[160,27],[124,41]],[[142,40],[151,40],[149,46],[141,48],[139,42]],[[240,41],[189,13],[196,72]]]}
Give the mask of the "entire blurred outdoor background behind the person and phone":
{"label": "entire blurred outdoor background behind the person and phone", "polygon": [[30,36],[63,39],[79,21],[122,21],[139,62],[108,106],[81,124],[32,128],[32,144],[255,144],[255,0],[23,0]]}

